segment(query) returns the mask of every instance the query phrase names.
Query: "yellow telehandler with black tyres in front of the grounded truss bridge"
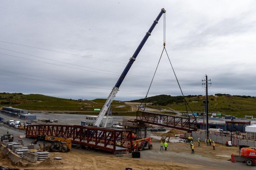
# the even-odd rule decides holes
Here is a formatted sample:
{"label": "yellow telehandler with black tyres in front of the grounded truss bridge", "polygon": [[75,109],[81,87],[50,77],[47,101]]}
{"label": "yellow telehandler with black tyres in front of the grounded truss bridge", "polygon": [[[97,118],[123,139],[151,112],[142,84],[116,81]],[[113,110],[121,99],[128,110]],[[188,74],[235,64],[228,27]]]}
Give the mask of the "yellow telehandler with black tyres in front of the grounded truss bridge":
{"label": "yellow telehandler with black tyres in front of the grounded truss bridge", "polygon": [[52,141],[51,144],[47,144],[44,147],[42,147],[39,144],[40,149],[45,152],[68,152],[71,150],[71,139],[70,138],[46,136],[45,140]]}

